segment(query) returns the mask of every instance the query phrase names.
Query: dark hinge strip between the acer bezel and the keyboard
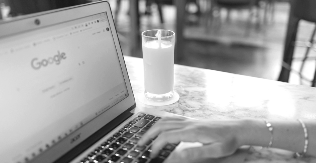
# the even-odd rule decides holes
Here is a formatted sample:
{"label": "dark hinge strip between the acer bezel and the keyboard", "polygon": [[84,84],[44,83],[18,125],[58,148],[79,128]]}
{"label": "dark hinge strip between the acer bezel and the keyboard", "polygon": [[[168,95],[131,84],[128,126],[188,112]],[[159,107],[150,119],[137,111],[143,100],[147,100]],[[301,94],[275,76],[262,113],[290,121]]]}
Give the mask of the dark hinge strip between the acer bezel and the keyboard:
{"label": "dark hinge strip between the acer bezel and the keyboard", "polygon": [[[134,104],[136,106],[136,104]],[[133,106],[134,106],[133,105]],[[132,107],[133,107],[132,106]],[[128,109],[130,110],[130,108]],[[133,113],[129,111],[124,111],[122,114],[120,114],[118,117],[113,119],[111,122],[103,126],[100,130],[95,132],[93,135],[88,137],[86,140],[84,140],[82,143],[77,145],[75,148],[71,149],[68,153],[60,157],[58,160],[54,161],[54,163],[68,163],[76,156],[80,155],[83,151],[88,149],[90,146],[92,146],[94,143],[96,143],[98,140],[103,138],[107,133],[111,132],[114,128],[119,126],[122,122],[124,122],[127,118],[131,117]]]}

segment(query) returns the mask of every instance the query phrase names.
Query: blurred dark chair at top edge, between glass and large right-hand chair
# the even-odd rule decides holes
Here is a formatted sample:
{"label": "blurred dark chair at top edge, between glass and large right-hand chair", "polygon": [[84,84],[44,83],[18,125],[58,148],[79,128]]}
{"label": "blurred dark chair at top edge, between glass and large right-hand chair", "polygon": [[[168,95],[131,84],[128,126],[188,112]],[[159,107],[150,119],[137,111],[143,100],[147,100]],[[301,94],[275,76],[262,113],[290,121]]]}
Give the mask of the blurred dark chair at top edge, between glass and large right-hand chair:
{"label": "blurred dark chair at top edge, between glass and large right-hand chair", "polygon": [[[247,20],[246,35],[249,35],[249,28],[251,27],[251,19],[254,15],[252,9],[258,7],[258,0],[211,0],[211,7],[207,13],[206,18],[206,29],[208,29],[208,20],[211,20],[211,23],[214,24],[215,18],[219,19],[221,16],[220,10],[226,8],[228,10],[227,20],[229,20],[230,10],[231,9],[247,9],[249,10],[249,17]],[[210,18],[209,18],[210,16]],[[219,20],[218,25],[221,25]]]}

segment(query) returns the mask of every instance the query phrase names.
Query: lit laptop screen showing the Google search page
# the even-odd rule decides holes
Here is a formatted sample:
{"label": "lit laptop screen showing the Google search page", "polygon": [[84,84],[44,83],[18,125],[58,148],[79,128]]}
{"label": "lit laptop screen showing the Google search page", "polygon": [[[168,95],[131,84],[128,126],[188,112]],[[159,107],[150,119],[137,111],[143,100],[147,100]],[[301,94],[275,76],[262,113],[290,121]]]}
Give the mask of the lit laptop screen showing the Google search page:
{"label": "lit laptop screen showing the Google search page", "polygon": [[0,39],[0,74],[5,163],[32,159],[128,96],[106,13]]}

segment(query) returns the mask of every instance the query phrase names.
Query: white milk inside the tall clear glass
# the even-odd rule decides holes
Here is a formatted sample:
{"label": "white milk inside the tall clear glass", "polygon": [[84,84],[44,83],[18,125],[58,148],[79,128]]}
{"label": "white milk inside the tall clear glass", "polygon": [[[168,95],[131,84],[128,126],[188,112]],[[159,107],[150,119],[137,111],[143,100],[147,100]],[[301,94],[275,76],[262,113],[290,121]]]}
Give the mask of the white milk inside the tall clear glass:
{"label": "white milk inside the tall clear glass", "polygon": [[158,40],[143,45],[145,91],[151,94],[166,94],[173,91],[174,45]]}

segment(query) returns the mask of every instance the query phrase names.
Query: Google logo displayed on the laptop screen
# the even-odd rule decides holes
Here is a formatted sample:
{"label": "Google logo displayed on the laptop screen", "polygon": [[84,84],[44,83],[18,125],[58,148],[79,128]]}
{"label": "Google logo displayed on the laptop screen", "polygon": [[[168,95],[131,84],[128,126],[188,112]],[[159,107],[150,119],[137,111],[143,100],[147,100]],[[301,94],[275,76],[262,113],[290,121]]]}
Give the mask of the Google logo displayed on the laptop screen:
{"label": "Google logo displayed on the laptop screen", "polygon": [[42,59],[42,60],[39,60],[38,58],[32,59],[31,61],[32,68],[34,68],[35,70],[38,70],[41,67],[46,67],[48,64],[53,64],[54,62],[56,63],[56,65],[59,65],[61,60],[66,59],[66,53],[64,52],[60,53],[59,51],[57,52],[58,53],[56,55],[54,55],[53,57],[49,57],[47,59]]}

